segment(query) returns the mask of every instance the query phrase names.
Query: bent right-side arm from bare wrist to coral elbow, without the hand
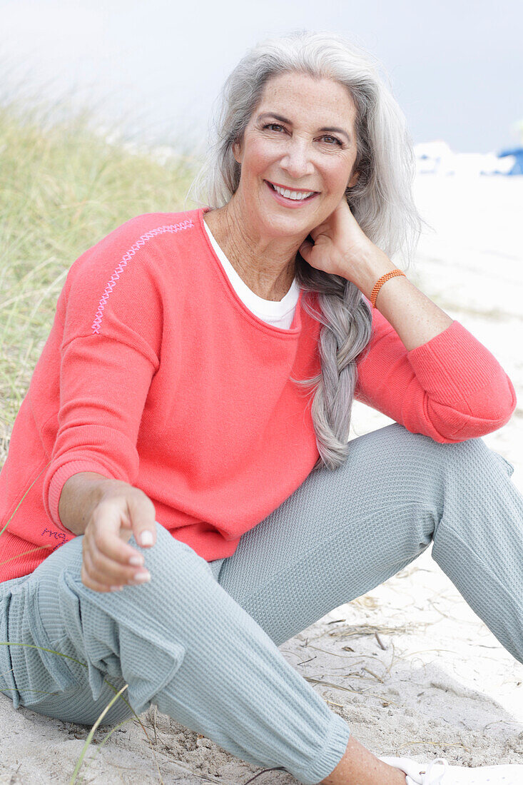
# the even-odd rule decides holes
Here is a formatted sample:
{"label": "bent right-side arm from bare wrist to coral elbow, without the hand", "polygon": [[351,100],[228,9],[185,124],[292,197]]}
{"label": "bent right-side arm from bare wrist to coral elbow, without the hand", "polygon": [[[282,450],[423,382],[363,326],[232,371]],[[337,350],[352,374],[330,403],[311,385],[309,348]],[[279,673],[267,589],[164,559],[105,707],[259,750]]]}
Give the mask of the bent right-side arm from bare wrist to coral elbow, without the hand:
{"label": "bent right-side arm from bare wrist to coral elbow, without the hand", "polygon": [[[364,296],[370,298],[375,282],[394,268],[386,254],[373,254],[359,279]],[[442,442],[485,436],[508,422],[516,393],[499,362],[406,276],[382,284],[374,321],[387,357],[381,379],[372,381],[397,415],[388,416]]]}

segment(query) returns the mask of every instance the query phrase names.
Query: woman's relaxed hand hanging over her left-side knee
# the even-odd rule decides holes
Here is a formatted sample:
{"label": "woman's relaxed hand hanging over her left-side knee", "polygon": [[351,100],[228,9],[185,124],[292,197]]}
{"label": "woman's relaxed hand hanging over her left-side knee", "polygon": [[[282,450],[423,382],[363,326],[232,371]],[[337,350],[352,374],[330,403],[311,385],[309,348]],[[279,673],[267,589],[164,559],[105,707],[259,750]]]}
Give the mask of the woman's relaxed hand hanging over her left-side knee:
{"label": "woman's relaxed hand hanging over her left-side knee", "polygon": [[[93,508],[82,542],[82,583],[94,591],[107,592],[126,584],[145,571],[140,551],[126,545],[134,535],[150,532],[156,542],[155,507],[139,488],[121,480],[106,480],[100,501]],[[145,547],[145,546],[144,546]],[[130,564],[130,560],[136,564]],[[149,575],[150,579],[150,575]],[[144,582],[144,581],[139,581]]]}

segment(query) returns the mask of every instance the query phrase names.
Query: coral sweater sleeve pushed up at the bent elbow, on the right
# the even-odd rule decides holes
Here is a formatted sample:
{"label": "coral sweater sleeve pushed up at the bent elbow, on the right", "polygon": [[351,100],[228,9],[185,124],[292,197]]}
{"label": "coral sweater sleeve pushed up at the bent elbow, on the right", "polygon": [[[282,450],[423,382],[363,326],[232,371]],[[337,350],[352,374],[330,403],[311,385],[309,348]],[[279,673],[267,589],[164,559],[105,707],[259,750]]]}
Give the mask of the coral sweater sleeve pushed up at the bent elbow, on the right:
{"label": "coral sweater sleeve pushed up at the bent elbow, on the right", "polygon": [[442,444],[485,436],[510,420],[514,385],[461,323],[408,351],[378,309],[372,319],[371,341],[357,359],[357,400]]}

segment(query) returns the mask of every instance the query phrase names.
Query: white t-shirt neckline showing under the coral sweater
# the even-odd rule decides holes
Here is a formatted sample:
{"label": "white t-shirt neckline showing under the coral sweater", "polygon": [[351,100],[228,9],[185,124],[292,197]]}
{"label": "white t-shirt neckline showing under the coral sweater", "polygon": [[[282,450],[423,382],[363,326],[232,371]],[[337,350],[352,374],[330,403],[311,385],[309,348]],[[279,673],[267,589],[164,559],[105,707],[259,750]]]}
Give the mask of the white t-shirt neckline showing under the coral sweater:
{"label": "white t-shirt neckline showing under the coral sweater", "polygon": [[280,327],[282,330],[289,330],[292,320],[294,319],[294,311],[300,294],[300,287],[298,287],[296,279],[294,278],[294,281],[291,283],[291,288],[288,290],[283,300],[272,301],[258,297],[258,294],[254,294],[254,292],[249,289],[247,283],[243,282],[235,268],[232,267],[232,264],[221,250],[221,247],[216,242],[214,235],[210,232],[210,228],[205,221],[203,221],[203,225],[205,226],[205,231],[207,232],[207,235],[209,235],[210,242],[216,251],[216,255],[221,261],[221,265],[240,300],[247,305],[247,308],[254,313],[254,316],[258,316],[258,319],[262,319],[262,321],[272,324],[272,327]]}

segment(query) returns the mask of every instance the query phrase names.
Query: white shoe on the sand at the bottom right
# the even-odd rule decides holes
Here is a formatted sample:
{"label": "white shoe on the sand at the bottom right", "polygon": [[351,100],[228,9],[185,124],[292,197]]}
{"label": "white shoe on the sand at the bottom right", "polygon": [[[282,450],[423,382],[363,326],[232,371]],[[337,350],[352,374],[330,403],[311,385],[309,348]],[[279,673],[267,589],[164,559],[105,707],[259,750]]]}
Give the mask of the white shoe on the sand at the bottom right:
{"label": "white shoe on the sand at the bottom right", "polygon": [[451,766],[444,758],[430,763],[417,763],[408,758],[379,758],[400,769],[407,785],[523,785],[523,765],[506,763],[499,766]]}

